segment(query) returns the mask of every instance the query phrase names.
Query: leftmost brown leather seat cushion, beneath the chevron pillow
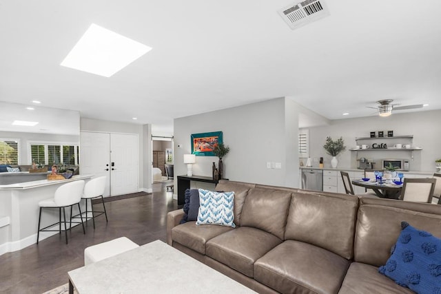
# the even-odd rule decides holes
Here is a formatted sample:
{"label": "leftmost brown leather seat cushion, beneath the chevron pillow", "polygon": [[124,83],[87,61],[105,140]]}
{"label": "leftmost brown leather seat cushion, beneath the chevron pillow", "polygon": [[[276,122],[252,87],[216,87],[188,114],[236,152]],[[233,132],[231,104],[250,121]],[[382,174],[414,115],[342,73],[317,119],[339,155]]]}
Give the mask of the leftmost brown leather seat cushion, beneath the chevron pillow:
{"label": "leftmost brown leather seat cushion, beneath the chevron pillow", "polygon": [[232,227],[216,226],[216,224],[196,226],[196,222],[185,222],[185,224],[180,224],[172,229],[172,240],[198,253],[205,254],[205,243],[208,240],[232,229]]}

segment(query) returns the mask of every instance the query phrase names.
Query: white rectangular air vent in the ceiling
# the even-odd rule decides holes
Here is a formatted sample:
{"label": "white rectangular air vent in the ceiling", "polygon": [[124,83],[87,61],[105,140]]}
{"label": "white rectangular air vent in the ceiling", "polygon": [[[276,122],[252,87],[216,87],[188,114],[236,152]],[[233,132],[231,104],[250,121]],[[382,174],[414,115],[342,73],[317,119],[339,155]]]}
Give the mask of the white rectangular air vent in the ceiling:
{"label": "white rectangular air vent in the ceiling", "polygon": [[289,28],[294,30],[307,23],[327,17],[329,10],[322,0],[306,0],[278,10],[278,14],[289,25]]}

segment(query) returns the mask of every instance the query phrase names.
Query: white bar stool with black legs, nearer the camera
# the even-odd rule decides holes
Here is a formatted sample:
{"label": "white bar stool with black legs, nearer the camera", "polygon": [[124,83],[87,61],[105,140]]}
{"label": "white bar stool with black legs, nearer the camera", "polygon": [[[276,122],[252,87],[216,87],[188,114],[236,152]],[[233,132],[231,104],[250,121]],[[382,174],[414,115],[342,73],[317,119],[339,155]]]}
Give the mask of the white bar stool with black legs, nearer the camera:
{"label": "white bar stool with black legs, nearer the camera", "polygon": [[[77,204],[78,209],[80,211],[81,216],[81,207],[80,207],[80,201],[81,201],[81,195],[83,194],[84,189],[84,180],[76,180],[74,182],[68,182],[67,184],[64,184],[57,188],[57,190],[54,193],[54,198],[41,200],[39,202],[40,207],[40,213],[39,213],[39,230],[37,232],[37,244],[39,244],[39,235],[41,231],[61,231],[65,232],[65,238],[66,238],[66,244],[68,244],[68,230],[72,228],[72,207]],[[66,212],[65,208],[70,207],[70,221],[69,221],[69,229],[66,225]],[[44,227],[43,229],[40,229],[40,222],[41,222],[41,211],[42,209],[52,209],[52,208],[58,208],[59,209],[59,222],[56,222],[54,224],[50,224],[48,227]],[[61,209],[63,209],[63,222],[61,222]],[[61,223],[64,223],[64,229],[61,229]],[[74,222],[74,223],[80,223],[80,222]],[[56,225],[59,225],[58,230],[51,230],[51,227],[54,227]],[[81,225],[83,226],[83,233],[85,233],[84,224],[83,224],[83,217],[81,217]]]}

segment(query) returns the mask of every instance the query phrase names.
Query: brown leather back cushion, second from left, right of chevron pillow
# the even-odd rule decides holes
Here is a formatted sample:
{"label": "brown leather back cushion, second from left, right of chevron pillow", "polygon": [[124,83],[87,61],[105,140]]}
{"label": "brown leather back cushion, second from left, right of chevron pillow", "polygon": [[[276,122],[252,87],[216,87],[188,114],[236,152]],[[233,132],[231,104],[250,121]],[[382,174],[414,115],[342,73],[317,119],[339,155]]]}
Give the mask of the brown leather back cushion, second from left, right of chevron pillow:
{"label": "brown leather back cushion, second from left, right of chevron pillow", "polygon": [[267,231],[283,239],[291,191],[254,188],[243,204],[240,225]]}

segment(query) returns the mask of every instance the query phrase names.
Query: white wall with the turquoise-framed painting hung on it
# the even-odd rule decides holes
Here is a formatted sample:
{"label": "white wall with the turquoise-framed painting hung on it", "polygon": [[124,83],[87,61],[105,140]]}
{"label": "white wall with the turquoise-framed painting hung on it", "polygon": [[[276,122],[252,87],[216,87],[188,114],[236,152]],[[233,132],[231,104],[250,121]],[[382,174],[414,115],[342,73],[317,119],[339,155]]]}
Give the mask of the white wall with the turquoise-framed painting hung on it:
{"label": "white wall with the turquoise-framed painting hung on it", "polygon": [[[187,174],[183,154],[191,153],[191,134],[218,131],[223,132],[224,143],[230,147],[229,154],[223,158],[225,178],[266,185],[298,186],[298,112],[294,101],[276,98],[176,118],[176,176]],[[212,176],[212,162],[216,162],[217,166],[218,158],[196,156],[193,174]],[[267,162],[281,162],[282,169],[267,169]]]}

